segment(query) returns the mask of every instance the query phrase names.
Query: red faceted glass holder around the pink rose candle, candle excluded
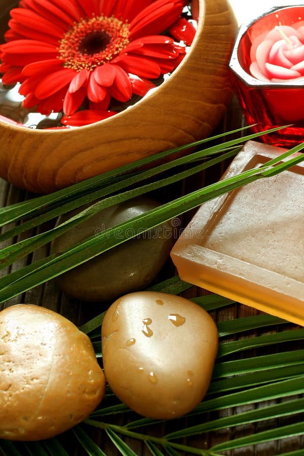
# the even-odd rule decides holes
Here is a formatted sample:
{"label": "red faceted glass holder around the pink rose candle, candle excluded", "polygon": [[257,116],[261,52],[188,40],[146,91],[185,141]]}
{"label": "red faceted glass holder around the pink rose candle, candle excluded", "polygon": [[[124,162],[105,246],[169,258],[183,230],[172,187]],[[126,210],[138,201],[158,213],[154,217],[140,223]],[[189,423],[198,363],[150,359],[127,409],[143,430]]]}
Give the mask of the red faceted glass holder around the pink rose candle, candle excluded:
{"label": "red faceted glass holder around the pink rose candle, candle excluded", "polygon": [[293,146],[304,140],[304,77],[293,81],[268,82],[253,77],[250,48],[255,38],[275,26],[304,21],[304,5],[275,7],[268,13],[242,25],[236,38],[230,70],[232,83],[244,116],[253,132],[287,126],[263,135],[261,140],[279,146]]}

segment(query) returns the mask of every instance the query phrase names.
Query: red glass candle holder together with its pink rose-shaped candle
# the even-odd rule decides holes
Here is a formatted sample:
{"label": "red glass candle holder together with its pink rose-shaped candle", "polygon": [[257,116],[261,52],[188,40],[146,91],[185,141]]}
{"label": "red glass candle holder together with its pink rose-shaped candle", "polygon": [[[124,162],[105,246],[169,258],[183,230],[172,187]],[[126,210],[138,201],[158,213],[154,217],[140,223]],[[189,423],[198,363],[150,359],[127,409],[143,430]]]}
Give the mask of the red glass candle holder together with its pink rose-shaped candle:
{"label": "red glass candle holder together with its pink rose-shaped candle", "polygon": [[[286,2],[287,3],[287,2]],[[229,63],[246,122],[261,140],[291,147],[304,139],[304,3],[282,5],[240,27]]]}

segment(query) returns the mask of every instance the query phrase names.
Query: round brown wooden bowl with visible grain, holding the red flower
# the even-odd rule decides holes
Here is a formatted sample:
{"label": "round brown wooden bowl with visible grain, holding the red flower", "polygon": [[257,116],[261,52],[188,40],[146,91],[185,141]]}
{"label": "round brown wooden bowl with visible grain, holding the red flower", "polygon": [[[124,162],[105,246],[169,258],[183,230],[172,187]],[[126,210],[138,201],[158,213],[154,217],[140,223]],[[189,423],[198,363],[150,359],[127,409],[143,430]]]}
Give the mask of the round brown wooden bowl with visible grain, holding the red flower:
{"label": "round brown wooden bowl with visible grain, holding the red flower", "polygon": [[[2,26],[15,5],[0,0]],[[0,176],[50,193],[210,135],[229,104],[228,62],[237,23],[226,0],[199,0],[199,27],[171,77],[131,108],[95,124],[33,130],[0,121]]]}

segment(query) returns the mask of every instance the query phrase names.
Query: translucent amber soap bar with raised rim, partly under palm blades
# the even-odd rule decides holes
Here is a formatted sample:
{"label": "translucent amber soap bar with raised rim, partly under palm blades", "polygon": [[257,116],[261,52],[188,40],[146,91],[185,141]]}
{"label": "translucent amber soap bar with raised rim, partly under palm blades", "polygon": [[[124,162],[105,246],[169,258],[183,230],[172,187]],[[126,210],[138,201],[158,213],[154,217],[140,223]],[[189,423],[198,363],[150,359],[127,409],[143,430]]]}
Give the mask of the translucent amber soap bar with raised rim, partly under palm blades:
{"label": "translucent amber soap bar with raised rim, partly under palm blades", "polygon": [[[248,141],[222,178],[283,151]],[[203,204],[171,257],[182,280],[304,325],[304,164]]]}

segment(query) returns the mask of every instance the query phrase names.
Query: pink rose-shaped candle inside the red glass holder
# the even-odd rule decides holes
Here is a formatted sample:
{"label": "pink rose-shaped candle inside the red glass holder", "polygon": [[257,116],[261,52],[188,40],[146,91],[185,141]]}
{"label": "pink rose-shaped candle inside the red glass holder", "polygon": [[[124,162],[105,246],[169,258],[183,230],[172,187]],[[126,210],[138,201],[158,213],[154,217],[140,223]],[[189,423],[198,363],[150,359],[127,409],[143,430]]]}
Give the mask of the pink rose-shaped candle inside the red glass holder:
{"label": "pink rose-shaped candle inside the red glass holder", "polygon": [[252,42],[250,60],[250,72],[260,81],[284,83],[304,78],[304,22],[276,26],[258,35]]}

